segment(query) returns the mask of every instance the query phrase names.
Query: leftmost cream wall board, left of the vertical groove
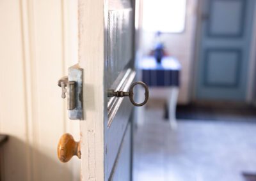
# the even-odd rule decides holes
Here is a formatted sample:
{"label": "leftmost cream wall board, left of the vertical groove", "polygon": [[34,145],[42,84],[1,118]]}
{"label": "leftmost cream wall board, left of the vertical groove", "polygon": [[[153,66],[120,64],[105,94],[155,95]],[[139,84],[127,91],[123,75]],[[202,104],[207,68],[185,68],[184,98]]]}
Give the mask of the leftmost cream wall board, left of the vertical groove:
{"label": "leftmost cream wall board, left of the vertical groove", "polygon": [[[0,180],[28,180],[24,166],[30,159],[26,145],[26,85],[24,85],[24,59],[22,27],[18,1],[0,2],[0,131],[10,135],[1,148]],[[14,82],[14,83],[13,83]],[[17,91],[19,90],[19,91]]]}

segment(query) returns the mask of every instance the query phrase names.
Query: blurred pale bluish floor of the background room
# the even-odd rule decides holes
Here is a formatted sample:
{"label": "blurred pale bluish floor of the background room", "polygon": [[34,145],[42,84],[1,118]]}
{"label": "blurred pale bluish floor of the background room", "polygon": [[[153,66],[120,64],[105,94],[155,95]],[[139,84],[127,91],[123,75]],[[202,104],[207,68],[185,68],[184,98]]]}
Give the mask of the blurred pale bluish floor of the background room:
{"label": "blurred pale bluish floor of the background room", "polygon": [[256,173],[256,123],[163,120],[149,107],[134,135],[134,181],[239,181]]}

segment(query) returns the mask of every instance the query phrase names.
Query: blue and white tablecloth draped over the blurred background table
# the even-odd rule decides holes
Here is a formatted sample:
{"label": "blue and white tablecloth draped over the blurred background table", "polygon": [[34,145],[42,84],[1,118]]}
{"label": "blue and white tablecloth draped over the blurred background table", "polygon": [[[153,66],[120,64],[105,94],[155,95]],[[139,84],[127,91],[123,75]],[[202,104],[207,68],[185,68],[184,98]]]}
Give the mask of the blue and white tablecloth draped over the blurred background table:
{"label": "blue and white tablecloth draped over the blurred background table", "polygon": [[180,63],[175,57],[163,57],[157,64],[154,57],[143,57],[138,62],[142,81],[150,87],[179,86]]}

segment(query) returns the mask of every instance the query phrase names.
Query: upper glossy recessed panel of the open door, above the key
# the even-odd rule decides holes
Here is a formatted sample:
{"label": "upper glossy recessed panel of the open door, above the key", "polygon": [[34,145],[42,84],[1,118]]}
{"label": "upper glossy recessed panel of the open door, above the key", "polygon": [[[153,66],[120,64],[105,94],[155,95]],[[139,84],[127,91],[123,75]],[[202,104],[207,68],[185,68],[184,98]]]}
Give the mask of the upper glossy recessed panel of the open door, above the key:
{"label": "upper glossy recessed panel of the open door, above the key", "polygon": [[[110,8],[110,7],[109,7]],[[113,8],[112,8],[113,9]],[[108,11],[108,87],[115,89],[132,59],[132,8]]]}

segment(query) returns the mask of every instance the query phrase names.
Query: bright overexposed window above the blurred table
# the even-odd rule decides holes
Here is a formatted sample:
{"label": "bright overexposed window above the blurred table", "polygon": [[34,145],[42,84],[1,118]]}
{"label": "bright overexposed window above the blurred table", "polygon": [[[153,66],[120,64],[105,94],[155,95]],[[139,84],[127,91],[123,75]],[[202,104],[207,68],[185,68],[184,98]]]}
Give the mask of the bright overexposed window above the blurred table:
{"label": "bright overexposed window above the blurred table", "polygon": [[181,33],[185,28],[186,0],[144,0],[143,30]]}

